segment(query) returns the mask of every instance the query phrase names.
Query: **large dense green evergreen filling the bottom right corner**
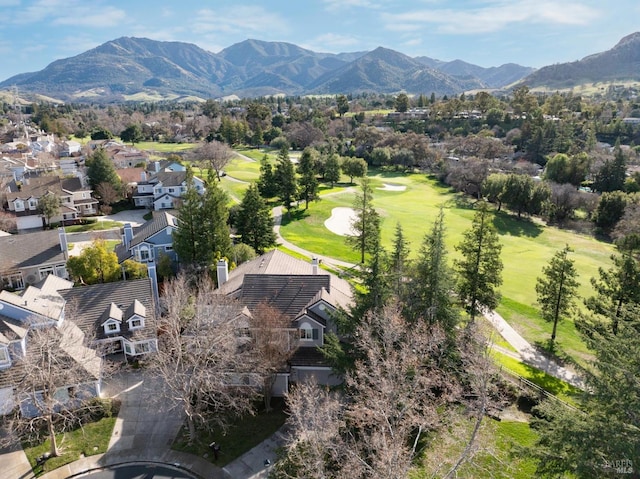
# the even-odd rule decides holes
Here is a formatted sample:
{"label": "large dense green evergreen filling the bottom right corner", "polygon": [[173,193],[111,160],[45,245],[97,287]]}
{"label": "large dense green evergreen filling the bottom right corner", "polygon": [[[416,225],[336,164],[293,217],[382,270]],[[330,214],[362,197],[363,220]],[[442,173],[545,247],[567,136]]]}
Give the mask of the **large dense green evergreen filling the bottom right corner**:
{"label": "large dense green evergreen filling the bottom right corner", "polygon": [[[625,308],[617,335],[588,331],[595,354],[585,371],[581,411],[556,401],[538,406],[531,423],[538,440],[530,449],[537,477],[637,477],[640,457],[640,311]],[[609,318],[613,321],[613,318]]]}

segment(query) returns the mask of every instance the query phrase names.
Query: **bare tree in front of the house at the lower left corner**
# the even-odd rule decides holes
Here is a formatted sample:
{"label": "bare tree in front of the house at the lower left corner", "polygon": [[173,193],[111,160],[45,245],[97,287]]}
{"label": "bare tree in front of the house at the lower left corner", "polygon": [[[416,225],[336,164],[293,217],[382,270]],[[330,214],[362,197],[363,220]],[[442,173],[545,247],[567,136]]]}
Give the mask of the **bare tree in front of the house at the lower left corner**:
{"label": "bare tree in front of the house at the lower left corner", "polygon": [[[34,325],[28,330],[26,350],[16,351],[13,412],[3,419],[5,441],[35,440],[48,436],[51,456],[60,451],[56,434],[82,424],[101,378],[102,359],[88,346],[87,338],[71,321],[60,327]],[[5,444],[7,445],[7,444]]]}

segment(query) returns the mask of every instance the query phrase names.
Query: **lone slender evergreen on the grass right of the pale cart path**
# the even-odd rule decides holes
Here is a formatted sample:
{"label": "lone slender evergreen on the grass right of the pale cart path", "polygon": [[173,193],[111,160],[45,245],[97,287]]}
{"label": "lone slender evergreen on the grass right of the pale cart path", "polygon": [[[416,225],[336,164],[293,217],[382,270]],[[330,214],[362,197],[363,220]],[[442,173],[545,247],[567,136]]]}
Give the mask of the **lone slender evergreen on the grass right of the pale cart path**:
{"label": "lone slender evergreen on the grass right of the pale cart path", "polygon": [[568,316],[575,302],[579,283],[574,261],[569,258],[569,245],[556,252],[549,264],[542,268],[543,276],[536,282],[536,293],[543,319],[553,322],[551,344],[556,339],[558,322]]}

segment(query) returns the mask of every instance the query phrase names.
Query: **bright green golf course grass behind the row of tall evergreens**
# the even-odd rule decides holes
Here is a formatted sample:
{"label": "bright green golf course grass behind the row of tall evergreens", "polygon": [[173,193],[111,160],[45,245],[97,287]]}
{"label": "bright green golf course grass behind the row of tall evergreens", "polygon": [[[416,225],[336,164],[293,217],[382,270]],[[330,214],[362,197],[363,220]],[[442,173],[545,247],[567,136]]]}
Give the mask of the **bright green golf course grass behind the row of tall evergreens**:
{"label": "bright green golf course grass behind the row of tall evergreens", "polygon": [[[374,188],[373,204],[383,219],[382,241],[385,247],[391,246],[396,224],[400,223],[415,255],[442,206],[449,259],[457,257],[454,246],[461,241],[474,215],[473,203],[468,197],[452,192],[424,174],[370,172],[370,177]],[[406,190],[377,189],[384,183],[404,185]],[[351,206],[353,199],[353,193],[325,196],[320,202],[312,203],[309,210],[299,210],[292,214],[291,219],[285,217],[281,233],[302,248],[356,262],[358,254],[346,246],[344,237],[331,233],[324,226],[333,208]],[[505,313],[507,320],[512,321],[529,342],[544,345],[550,336],[551,325],[539,317],[535,293],[536,279],[541,275],[542,267],[557,250],[569,244],[574,249],[571,256],[579,274],[579,294],[587,297],[593,294],[590,278],[597,275],[599,267],[609,266],[613,246],[533,220],[518,220],[515,215],[505,212],[495,214],[494,225],[503,245],[503,285],[500,288],[503,302],[499,311]],[[589,357],[571,321],[560,325],[558,350],[561,356],[574,357],[578,362]]]}

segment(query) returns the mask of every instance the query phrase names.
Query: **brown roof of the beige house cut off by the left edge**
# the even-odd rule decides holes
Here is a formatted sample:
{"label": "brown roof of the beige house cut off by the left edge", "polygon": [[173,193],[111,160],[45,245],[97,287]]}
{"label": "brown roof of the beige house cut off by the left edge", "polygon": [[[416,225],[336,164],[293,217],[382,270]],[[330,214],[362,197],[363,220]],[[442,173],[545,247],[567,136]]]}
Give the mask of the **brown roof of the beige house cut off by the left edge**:
{"label": "brown roof of the beige house cut off by the left edge", "polygon": [[0,237],[0,272],[65,261],[57,231]]}

